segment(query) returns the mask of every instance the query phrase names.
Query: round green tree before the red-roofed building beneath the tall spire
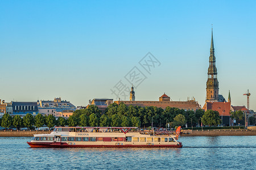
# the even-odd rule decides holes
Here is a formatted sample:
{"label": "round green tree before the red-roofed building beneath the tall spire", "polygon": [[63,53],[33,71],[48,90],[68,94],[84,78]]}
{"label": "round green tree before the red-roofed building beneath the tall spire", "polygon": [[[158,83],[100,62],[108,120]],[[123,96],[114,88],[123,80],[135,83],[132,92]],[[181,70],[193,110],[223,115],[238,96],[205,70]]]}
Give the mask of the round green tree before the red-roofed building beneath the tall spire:
{"label": "round green tree before the red-roofed building beneath the tall spire", "polygon": [[202,117],[202,122],[204,125],[219,125],[221,120],[220,120],[220,114],[217,111],[213,111],[213,110],[207,110],[206,112],[204,112],[204,115]]}

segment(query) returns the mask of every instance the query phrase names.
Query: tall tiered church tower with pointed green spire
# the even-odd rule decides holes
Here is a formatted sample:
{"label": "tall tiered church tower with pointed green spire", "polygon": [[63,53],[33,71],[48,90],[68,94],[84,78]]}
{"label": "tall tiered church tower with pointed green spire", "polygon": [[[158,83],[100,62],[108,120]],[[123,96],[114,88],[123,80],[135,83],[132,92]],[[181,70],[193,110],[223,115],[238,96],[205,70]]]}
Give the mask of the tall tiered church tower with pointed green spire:
{"label": "tall tiered church tower with pointed green spire", "polygon": [[213,31],[212,40],[210,42],[210,57],[208,67],[208,80],[207,80],[207,99],[206,102],[217,102],[218,101],[218,80],[217,80],[217,68],[216,58],[214,56],[214,45],[213,45]]}

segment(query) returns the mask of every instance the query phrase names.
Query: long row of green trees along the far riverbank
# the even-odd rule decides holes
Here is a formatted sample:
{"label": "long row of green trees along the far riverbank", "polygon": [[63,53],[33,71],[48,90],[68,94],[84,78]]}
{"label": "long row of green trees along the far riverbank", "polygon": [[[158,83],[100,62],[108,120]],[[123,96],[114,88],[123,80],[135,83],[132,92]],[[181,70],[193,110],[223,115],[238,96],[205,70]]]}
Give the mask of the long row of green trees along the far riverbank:
{"label": "long row of green trees along the far riverbank", "polygon": [[[230,112],[232,118],[236,120],[242,119],[242,111]],[[204,125],[220,125],[221,119],[217,111],[208,110],[204,112],[199,109],[196,112],[184,111],[184,109],[166,107],[166,109],[157,107],[139,107],[133,105],[110,104],[106,108],[104,114],[101,113],[95,105],[89,105],[86,109],[80,109],[73,113],[67,120],[63,117],[55,118],[51,114],[43,116],[37,114],[33,117],[31,114],[26,114],[23,118],[16,115],[13,118],[9,114],[4,114],[2,117],[1,126],[9,128],[27,127],[37,128],[43,125],[52,128],[53,126],[135,126],[149,127],[165,127],[168,124],[174,126],[195,126],[203,122]]]}

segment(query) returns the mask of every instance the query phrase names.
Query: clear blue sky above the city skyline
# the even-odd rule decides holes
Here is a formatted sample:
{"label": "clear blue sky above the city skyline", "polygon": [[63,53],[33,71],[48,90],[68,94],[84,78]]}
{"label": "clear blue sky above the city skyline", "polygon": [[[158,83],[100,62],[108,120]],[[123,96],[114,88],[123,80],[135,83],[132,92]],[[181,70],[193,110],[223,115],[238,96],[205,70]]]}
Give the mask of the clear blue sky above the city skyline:
{"label": "clear blue sky above the city skyline", "polygon": [[[75,105],[115,98],[137,66],[136,100],[194,96],[204,105],[211,24],[220,94],[256,110],[256,1],[0,1],[0,99]],[[151,75],[139,61],[161,63]],[[126,82],[130,86],[129,83]],[[129,94],[127,94],[128,98]]]}

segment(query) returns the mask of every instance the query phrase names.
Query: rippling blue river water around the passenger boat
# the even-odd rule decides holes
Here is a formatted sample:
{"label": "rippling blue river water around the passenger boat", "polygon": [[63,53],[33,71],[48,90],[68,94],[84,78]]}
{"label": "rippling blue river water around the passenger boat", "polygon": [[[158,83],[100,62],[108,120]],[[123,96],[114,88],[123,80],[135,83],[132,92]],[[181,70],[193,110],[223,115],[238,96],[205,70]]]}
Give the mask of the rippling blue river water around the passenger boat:
{"label": "rippling blue river water around the passenger boat", "polygon": [[183,148],[30,148],[0,137],[1,169],[256,169],[256,136],[180,137]]}

